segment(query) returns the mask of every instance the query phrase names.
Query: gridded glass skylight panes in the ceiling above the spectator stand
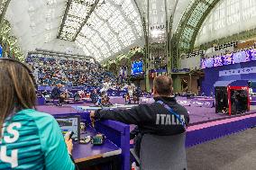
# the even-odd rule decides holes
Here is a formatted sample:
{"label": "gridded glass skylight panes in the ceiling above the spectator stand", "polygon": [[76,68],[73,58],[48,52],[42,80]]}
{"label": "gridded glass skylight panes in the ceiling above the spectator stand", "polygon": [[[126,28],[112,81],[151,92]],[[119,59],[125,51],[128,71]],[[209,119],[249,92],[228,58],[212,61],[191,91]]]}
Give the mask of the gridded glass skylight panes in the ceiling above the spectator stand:
{"label": "gridded glass skylight panes in the ceiling above the spectator stand", "polygon": [[94,4],[69,0],[59,39],[75,40],[86,55],[100,61],[142,38],[142,20],[132,0],[99,0],[95,9]]}

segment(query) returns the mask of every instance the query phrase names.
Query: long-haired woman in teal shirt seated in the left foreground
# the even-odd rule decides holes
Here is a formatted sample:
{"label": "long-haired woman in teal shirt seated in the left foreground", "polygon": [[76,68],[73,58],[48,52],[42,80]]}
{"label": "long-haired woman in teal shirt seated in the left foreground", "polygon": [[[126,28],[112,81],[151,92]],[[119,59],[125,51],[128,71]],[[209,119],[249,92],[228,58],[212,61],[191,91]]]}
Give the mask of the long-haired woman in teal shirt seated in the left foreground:
{"label": "long-haired woman in teal shirt seated in the left foreground", "polygon": [[29,67],[0,58],[0,169],[73,170],[72,140],[66,145],[57,121],[34,110],[33,84]]}

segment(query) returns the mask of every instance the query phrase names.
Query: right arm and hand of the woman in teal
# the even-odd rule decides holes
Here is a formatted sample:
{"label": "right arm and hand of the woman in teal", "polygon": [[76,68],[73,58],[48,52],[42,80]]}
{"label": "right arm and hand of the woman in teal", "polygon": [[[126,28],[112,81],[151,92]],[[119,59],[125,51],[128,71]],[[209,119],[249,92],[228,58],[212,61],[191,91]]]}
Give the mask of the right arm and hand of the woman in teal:
{"label": "right arm and hand of the woman in teal", "polygon": [[[52,116],[45,116],[37,121],[41,139],[41,149],[44,153],[45,169],[73,170],[75,164],[71,154],[72,144],[69,141],[69,151],[58,122]],[[70,152],[70,153],[69,153]]]}

